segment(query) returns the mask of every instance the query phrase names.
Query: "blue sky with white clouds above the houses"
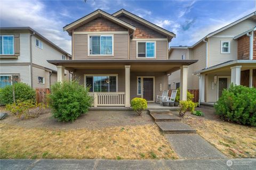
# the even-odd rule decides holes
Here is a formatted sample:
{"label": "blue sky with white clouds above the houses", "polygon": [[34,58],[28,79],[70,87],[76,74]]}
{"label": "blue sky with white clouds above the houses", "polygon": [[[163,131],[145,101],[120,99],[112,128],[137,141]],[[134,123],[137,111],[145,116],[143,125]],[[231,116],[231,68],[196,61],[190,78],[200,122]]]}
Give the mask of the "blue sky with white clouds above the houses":
{"label": "blue sky with white clouds above the houses", "polygon": [[125,8],[174,32],[177,38],[171,46],[190,46],[208,33],[255,11],[255,1],[0,0],[0,26],[29,26],[71,53],[71,37],[62,27],[98,8],[110,14]]}

